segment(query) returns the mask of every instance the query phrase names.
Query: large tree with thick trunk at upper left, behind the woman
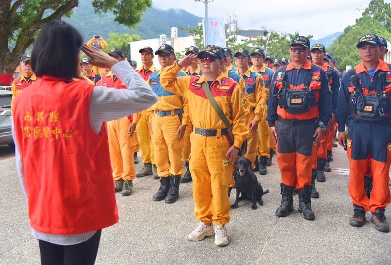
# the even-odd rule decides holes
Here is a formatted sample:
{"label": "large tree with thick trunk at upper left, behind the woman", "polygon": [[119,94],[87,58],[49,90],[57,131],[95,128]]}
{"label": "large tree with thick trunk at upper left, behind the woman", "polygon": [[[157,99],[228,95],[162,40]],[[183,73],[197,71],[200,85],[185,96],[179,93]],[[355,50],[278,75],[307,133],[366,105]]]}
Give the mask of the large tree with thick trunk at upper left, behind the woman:
{"label": "large tree with thick trunk at upper left, behind the woman", "polygon": [[[70,16],[79,0],[1,0],[0,74],[13,73],[38,31],[49,21]],[[134,27],[152,0],[92,0],[97,13],[112,11],[115,21]]]}

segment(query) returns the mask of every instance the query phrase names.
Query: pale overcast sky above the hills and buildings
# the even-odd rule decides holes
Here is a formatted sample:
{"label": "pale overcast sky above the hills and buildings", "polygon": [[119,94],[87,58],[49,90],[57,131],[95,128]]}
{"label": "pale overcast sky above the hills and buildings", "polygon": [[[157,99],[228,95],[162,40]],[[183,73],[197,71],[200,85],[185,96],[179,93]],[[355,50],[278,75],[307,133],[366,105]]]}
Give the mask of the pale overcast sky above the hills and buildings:
{"label": "pale overcast sky above the hills and buildings", "polygon": [[[240,29],[313,35],[323,38],[343,31],[360,17],[370,0],[214,0],[208,3],[208,16],[225,18],[234,12]],[[390,3],[391,0],[385,0]],[[153,0],[154,7],[184,9],[204,17],[204,3],[195,0]]]}

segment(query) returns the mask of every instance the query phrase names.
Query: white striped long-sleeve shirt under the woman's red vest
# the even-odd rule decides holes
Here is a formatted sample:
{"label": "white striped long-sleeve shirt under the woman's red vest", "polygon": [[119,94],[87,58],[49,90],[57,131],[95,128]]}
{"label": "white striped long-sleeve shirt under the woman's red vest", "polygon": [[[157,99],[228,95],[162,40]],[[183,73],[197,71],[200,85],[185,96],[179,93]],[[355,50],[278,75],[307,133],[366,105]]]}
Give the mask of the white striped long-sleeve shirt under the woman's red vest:
{"label": "white striped long-sleeve shirt under the woman's red vest", "polygon": [[[114,74],[125,83],[127,89],[110,89],[103,86],[95,86],[89,105],[89,117],[91,126],[99,134],[102,125],[106,121],[117,120],[133,113],[149,108],[157,102],[156,94],[147,85],[138,72],[135,72],[127,61],[116,63],[112,69]],[[14,124],[12,124],[14,126]],[[12,130],[15,143],[16,169],[22,186],[22,191],[27,197],[23,165],[18,143]],[[27,198],[28,199],[28,198]],[[95,231],[73,235],[58,235],[41,233],[32,229],[32,235],[40,240],[58,245],[74,245],[90,239]]]}

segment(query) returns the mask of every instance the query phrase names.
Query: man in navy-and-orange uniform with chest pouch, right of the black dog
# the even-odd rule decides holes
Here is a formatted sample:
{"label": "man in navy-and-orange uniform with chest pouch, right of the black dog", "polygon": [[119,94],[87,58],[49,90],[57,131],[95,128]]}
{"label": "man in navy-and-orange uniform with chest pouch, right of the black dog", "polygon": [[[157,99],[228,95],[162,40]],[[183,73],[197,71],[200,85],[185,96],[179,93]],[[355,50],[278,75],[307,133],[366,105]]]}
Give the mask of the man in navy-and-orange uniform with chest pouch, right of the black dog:
{"label": "man in navy-and-orange uniform with chest pouch, right of the black dog", "polygon": [[[277,144],[281,172],[281,205],[276,216],[293,210],[293,190],[299,194],[299,211],[314,220],[311,206],[312,149],[331,119],[331,92],[325,71],[307,60],[310,42],[297,36],[290,45],[291,63],[274,74],[268,104],[270,133]],[[275,127],[275,122],[278,123]]]}

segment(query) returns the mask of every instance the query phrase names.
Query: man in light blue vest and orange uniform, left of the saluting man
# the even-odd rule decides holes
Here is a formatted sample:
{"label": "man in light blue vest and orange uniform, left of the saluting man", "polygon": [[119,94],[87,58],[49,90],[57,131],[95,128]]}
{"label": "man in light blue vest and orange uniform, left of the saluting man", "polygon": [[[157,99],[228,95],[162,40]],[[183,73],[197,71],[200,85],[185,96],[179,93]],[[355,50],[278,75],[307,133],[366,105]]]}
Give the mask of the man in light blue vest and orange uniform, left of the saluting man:
{"label": "man in light blue vest and orange uniform, left of the saluting man", "polygon": [[[155,55],[158,55],[162,68],[150,75],[148,83],[158,96],[158,101],[152,106],[152,144],[160,187],[152,200],[174,203],[179,198],[179,184],[183,176],[181,158],[189,107],[184,96],[167,91],[160,81],[164,69],[176,61],[173,47],[162,44]],[[178,76],[185,75],[184,72],[178,73]]]}

